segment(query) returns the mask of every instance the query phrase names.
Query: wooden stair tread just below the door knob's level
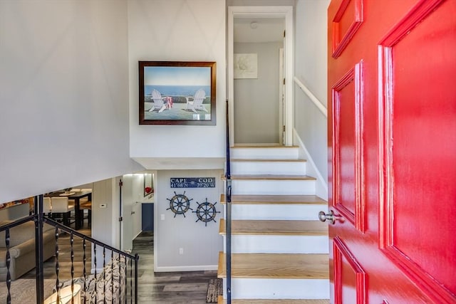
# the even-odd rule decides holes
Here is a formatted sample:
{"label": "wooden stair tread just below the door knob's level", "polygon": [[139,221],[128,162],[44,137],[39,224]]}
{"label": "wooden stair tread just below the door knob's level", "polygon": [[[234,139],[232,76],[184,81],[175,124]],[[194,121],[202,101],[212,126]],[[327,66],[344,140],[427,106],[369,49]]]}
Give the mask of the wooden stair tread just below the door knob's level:
{"label": "wooden stair tread just below the door knob's level", "polygon": [[[221,219],[219,233],[227,234],[225,220]],[[232,220],[234,235],[327,236],[328,225],[321,221],[289,220]]]}

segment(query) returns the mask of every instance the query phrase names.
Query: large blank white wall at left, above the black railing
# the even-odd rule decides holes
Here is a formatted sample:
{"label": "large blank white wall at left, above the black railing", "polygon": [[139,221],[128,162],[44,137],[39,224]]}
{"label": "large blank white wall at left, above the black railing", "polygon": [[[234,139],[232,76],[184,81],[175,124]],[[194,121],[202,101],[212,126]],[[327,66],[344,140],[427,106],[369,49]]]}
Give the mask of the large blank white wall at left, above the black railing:
{"label": "large blank white wall at left, above the black railing", "polygon": [[0,202],[142,169],[129,155],[127,9],[0,1]]}

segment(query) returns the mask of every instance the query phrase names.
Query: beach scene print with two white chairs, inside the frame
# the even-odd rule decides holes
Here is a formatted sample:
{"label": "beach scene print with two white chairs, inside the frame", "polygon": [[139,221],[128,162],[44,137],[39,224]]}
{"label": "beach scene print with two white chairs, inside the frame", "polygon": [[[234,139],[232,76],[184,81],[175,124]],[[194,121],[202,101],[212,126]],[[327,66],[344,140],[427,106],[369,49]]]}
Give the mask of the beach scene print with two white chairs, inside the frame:
{"label": "beach scene print with two white chairs, inside the frame", "polygon": [[211,120],[210,66],[144,66],[144,120]]}

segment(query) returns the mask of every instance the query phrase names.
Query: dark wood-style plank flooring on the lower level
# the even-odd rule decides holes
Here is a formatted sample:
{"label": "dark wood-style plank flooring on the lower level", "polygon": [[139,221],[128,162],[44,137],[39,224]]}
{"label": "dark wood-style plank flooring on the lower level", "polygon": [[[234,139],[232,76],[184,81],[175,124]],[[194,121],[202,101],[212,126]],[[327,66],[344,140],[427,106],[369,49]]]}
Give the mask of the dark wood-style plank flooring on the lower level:
{"label": "dark wood-style plank flooring on the lower level", "polygon": [[[83,226],[79,232],[90,236],[90,228]],[[70,237],[63,234],[59,240],[59,274],[60,281],[71,278]],[[74,277],[82,276],[82,246],[75,238]],[[86,269],[90,272],[90,247],[88,246]],[[179,273],[154,273],[154,243],[153,233],[143,232],[133,240],[133,254],[140,256],[138,262],[138,303],[160,304],[202,304],[206,303],[207,283],[211,278],[217,278],[217,271],[190,271]],[[44,278],[55,279],[55,258],[44,263]],[[21,278],[36,278],[35,270],[29,271]]]}

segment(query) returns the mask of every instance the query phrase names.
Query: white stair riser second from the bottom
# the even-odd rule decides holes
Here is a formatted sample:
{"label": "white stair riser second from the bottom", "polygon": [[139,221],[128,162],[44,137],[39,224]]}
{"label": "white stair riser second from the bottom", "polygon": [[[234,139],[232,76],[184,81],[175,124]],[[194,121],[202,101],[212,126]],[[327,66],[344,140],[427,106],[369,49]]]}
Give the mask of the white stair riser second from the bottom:
{"label": "white stair riser second from the bottom", "polygon": [[[232,253],[328,253],[328,236],[232,235]],[[224,244],[225,244],[224,236]],[[226,251],[226,248],[224,248]]]}

